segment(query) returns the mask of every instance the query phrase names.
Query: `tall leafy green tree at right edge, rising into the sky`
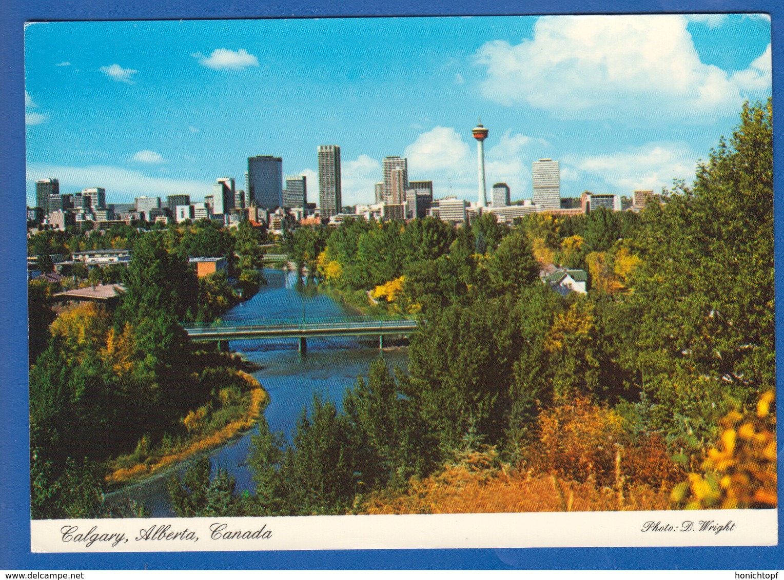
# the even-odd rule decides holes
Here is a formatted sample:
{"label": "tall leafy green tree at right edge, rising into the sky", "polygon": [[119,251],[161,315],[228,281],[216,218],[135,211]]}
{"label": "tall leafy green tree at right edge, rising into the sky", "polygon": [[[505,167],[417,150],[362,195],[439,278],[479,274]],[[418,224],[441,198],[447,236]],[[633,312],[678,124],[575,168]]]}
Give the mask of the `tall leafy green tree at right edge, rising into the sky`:
{"label": "tall leafy green tree at right edge, rising into the sky", "polygon": [[641,214],[624,360],[670,422],[713,413],[727,394],[752,404],[775,384],[771,119],[771,100],[747,103],[694,186]]}

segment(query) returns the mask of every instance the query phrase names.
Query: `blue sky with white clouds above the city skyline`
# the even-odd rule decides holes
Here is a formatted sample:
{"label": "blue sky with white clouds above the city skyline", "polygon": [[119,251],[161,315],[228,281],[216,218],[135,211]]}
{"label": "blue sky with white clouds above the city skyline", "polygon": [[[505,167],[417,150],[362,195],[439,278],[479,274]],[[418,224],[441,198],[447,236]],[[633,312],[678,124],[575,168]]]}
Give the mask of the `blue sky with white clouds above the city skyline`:
{"label": "blue sky with white clouds above the city skyline", "polygon": [[318,200],[317,147],[341,147],[343,203],[369,203],[381,160],[434,195],[561,196],[687,182],[744,99],[771,93],[763,16],[514,16],[34,23],[25,31],[27,203],[34,181],[105,187],[110,203],[244,183],[283,158]]}

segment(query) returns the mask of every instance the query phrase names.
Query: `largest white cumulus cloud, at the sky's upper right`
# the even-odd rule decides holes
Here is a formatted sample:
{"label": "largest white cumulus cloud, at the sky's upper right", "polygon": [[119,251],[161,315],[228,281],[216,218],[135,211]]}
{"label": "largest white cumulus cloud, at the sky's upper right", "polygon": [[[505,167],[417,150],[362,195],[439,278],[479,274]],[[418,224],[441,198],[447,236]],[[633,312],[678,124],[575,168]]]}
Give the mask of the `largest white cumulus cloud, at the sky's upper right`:
{"label": "largest white cumulus cloud, at the sky's upper right", "polygon": [[764,62],[736,74],[702,63],[687,25],[678,15],[546,16],[533,38],[489,41],[474,62],[486,67],[486,98],[561,119],[706,122],[769,88]]}

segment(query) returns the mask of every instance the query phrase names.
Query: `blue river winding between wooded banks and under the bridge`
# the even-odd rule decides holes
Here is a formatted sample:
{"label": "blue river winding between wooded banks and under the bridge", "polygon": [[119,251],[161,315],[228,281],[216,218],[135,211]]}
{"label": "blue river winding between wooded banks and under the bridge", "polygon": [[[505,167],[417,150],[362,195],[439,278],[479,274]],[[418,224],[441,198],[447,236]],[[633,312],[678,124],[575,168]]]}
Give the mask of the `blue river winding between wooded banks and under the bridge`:
{"label": "blue river winding between wooded banks and under the bridge", "polygon": [[[224,321],[301,319],[303,312],[306,319],[356,315],[326,294],[312,288],[303,290],[296,284],[295,272],[267,269],[263,274],[267,285],[223,315]],[[357,376],[367,376],[370,363],[379,356],[378,345],[378,337],[330,337],[308,338],[307,355],[299,354],[294,338],[234,340],[230,348],[260,367],[253,376],[270,394],[264,417],[270,430],[281,431],[290,440],[296,419],[304,407],[310,408],[314,392],[339,404]],[[387,348],[381,355],[390,366],[408,366],[408,348]],[[254,488],[246,463],[254,434],[256,429],[209,452],[213,466],[223,467],[235,477],[238,491]],[[186,468],[187,463],[182,464],[111,496],[129,495],[144,503],[151,517],[172,517],[166,480],[172,474],[183,474]]]}

